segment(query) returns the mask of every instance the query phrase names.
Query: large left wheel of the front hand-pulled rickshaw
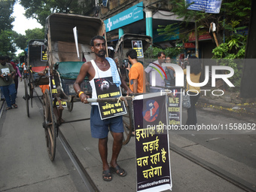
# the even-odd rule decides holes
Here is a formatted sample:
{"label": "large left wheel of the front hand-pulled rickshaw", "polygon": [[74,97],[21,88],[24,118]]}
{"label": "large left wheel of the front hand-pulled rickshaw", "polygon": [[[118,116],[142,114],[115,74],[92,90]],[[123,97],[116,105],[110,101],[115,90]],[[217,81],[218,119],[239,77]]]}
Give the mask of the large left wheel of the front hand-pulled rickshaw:
{"label": "large left wheel of the front hand-pulled rickshaw", "polygon": [[56,151],[56,123],[53,114],[53,100],[49,90],[44,92],[44,133],[46,139],[47,152],[50,160],[53,161]]}

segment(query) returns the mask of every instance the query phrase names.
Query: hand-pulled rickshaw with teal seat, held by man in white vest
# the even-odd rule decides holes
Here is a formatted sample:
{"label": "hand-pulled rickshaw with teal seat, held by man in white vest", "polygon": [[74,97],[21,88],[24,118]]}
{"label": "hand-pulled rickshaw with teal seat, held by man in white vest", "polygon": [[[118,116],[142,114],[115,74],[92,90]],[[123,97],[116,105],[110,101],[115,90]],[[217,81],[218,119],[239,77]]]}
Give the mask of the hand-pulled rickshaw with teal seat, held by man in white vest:
{"label": "hand-pulled rickshaw with teal seat, held by man in white vest", "polygon": [[[50,160],[54,160],[55,157],[59,126],[62,123],[78,121],[62,120],[62,110],[66,103],[72,105],[73,102],[81,102],[73,84],[83,63],[94,59],[90,40],[95,35],[105,35],[105,25],[99,18],[74,14],[51,14],[47,17],[44,43],[47,46],[50,87],[44,92],[43,126]],[[85,78],[81,84],[81,91],[91,95],[88,78]],[[117,102],[117,99],[88,99],[88,102]],[[126,102],[124,97],[119,99]],[[132,114],[127,105],[126,111],[123,123],[127,129],[125,129],[123,144],[129,142],[132,131]]]}

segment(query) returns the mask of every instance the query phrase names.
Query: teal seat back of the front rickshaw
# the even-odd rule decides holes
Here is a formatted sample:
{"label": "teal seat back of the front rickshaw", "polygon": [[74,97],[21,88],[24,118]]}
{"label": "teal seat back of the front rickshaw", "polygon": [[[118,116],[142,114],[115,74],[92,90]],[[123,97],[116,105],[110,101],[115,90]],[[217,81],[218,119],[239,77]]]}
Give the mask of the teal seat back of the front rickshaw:
{"label": "teal seat back of the front rickshaw", "polygon": [[56,62],[54,67],[59,72],[60,78],[76,79],[83,64],[84,62],[80,61]]}

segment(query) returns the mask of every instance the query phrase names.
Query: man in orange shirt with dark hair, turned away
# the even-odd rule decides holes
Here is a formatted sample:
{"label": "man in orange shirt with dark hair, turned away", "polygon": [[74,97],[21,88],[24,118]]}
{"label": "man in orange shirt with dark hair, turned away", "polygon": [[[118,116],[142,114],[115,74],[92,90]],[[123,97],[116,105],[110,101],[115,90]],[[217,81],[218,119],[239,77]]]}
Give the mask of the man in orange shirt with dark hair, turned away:
{"label": "man in orange shirt with dark hair, turned away", "polygon": [[142,66],[142,63],[137,61],[136,50],[128,50],[126,56],[128,57],[128,62],[132,64],[129,72],[130,89],[133,91],[133,93],[144,93],[144,68]]}

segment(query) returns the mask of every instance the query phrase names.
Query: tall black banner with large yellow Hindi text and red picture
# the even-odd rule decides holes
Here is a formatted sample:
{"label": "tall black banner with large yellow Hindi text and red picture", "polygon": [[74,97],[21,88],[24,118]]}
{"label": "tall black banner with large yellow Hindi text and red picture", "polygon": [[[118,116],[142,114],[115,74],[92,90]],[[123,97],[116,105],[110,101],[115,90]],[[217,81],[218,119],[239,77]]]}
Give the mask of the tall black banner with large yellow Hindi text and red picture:
{"label": "tall black banner with large yellow Hindi text and red picture", "polygon": [[159,93],[136,96],[133,112],[137,191],[171,190],[166,96]]}

